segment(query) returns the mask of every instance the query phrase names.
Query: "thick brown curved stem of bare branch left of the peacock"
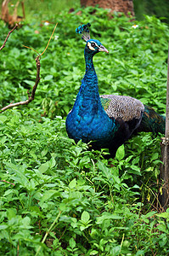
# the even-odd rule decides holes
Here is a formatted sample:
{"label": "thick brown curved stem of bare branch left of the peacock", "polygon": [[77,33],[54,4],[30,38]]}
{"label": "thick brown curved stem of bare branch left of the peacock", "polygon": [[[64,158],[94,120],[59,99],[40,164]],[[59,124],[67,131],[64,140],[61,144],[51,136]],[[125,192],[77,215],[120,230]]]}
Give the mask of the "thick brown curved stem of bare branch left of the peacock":
{"label": "thick brown curved stem of bare branch left of the peacock", "polygon": [[35,85],[33,86],[33,89],[31,90],[31,96],[30,96],[30,93],[29,93],[29,90],[28,90],[27,91],[28,99],[25,102],[11,103],[8,106],[2,108],[0,113],[2,113],[3,111],[7,110],[8,108],[14,108],[14,107],[17,107],[17,106],[20,106],[20,105],[27,105],[27,104],[29,104],[30,102],[32,102],[34,100],[35,92],[37,90],[37,84],[40,81],[40,67],[41,67],[41,64],[40,64],[39,58],[40,58],[40,56],[37,56],[37,58],[36,58],[36,62],[37,62],[37,78],[36,78]]}

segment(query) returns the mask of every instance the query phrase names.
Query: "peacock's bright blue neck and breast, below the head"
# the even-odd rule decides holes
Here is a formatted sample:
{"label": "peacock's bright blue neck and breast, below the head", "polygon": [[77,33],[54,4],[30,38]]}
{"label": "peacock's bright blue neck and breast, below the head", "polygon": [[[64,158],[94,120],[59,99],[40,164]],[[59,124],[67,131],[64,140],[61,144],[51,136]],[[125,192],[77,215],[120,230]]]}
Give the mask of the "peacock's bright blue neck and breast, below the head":
{"label": "peacock's bright blue neck and breast, below the head", "polygon": [[93,53],[85,48],[86,73],[76,102],[67,116],[66,131],[76,142],[97,142],[99,147],[107,147],[114,136],[115,120],[110,119],[101,104],[98,78],[93,66]]}

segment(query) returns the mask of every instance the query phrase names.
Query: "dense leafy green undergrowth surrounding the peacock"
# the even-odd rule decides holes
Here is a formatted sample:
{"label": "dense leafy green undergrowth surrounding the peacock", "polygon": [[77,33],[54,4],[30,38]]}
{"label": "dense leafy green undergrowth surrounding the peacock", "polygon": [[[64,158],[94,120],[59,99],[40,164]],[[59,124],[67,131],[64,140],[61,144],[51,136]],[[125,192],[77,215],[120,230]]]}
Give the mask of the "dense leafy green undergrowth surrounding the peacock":
{"label": "dense leafy green undergrowth surrounding the peacock", "polygon": [[[134,96],[166,109],[168,27],[155,17],[137,22],[102,9],[78,9],[31,20],[0,52],[0,105],[27,97],[42,52],[41,82],[28,106],[0,114],[3,255],[167,255],[169,211],[158,212],[160,136],[142,133],[119,148],[89,150],[71,141],[65,117],[85,72],[76,26],[90,22],[92,38],[110,50],[94,57],[100,94]],[[138,27],[132,27],[137,23]],[[0,22],[0,42],[8,28]],[[160,188],[159,188],[160,187]],[[161,189],[160,189],[161,191]]]}

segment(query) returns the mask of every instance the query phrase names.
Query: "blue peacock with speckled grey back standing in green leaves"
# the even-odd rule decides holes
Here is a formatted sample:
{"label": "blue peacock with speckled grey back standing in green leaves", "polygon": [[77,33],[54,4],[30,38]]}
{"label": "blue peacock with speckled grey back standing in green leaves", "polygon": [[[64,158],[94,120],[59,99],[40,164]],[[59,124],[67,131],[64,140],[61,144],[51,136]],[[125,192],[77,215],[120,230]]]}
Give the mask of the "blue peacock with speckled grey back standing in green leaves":
{"label": "blue peacock with speckled grey back standing in green leaves", "polygon": [[117,148],[138,131],[165,133],[166,119],[153,108],[145,106],[131,96],[99,96],[97,74],[93,56],[100,51],[109,51],[99,42],[90,38],[89,27],[78,26],[76,32],[87,44],[84,49],[86,73],[82,79],[76,102],[66,118],[66,131],[75,142],[92,141],[94,149],[109,148],[115,156]]}

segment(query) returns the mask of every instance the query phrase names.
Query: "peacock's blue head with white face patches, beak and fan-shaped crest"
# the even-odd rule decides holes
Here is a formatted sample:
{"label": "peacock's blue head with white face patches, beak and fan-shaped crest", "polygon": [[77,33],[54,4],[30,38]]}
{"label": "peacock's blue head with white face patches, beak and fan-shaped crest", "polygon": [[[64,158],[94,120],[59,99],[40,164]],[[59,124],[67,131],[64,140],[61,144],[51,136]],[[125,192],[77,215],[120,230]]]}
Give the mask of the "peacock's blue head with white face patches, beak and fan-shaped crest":
{"label": "peacock's blue head with white face patches, beak and fan-shaped crest", "polygon": [[82,39],[87,42],[85,46],[85,51],[88,54],[95,55],[99,51],[104,51],[106,53],[109,53],[109,51],[102,45],[99,40],[91,39],[90,38],[90,32],[89,27],[90,23],[87,23],[86,25],[78,26],[76,28],[76,33],[79,33],[82,35]]}

